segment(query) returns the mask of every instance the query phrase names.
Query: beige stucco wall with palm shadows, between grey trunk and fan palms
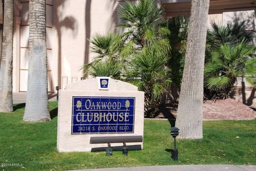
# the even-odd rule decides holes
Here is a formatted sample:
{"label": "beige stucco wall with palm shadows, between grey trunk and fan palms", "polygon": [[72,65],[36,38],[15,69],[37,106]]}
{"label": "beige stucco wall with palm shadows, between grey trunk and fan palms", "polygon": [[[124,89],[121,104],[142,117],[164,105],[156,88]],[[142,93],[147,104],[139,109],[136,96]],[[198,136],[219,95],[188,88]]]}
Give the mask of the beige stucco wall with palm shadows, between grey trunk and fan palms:
{"label": "beige stucco wall with palm shadows, between grey trunk and fan palms", "polygon": [[105,34],[115,28],[117,1],[53,1],[54,84],[65,88],[81,80],[83,64],[93,59],[89,39],[96,32]]}

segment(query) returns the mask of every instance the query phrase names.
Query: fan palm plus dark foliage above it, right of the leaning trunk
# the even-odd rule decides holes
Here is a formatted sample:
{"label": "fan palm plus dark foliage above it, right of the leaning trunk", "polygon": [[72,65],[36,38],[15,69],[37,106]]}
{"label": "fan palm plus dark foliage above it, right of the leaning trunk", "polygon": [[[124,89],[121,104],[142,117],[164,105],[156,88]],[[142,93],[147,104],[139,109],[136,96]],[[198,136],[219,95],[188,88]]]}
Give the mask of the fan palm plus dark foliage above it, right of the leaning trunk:
{"label": "fan palm plus dark foliage above it, right of the leaning trunk", "polygon": [[255,50],[251,45],[253,37],[253,32],[246,31],[245,22],[225,26],[212,23],[212,29],[207,31],[205,53],[206,99],[227,99],[236,77],[246,77],[254,85],[250,78],[255,76],[251,68]]}

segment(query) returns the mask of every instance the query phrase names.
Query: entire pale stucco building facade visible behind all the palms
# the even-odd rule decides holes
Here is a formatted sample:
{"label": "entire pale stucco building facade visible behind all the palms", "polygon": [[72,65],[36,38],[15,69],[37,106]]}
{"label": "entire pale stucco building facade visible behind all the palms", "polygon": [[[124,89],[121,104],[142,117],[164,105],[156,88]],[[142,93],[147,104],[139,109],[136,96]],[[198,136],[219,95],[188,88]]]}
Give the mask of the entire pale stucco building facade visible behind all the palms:
{"label": "entire pale stucco building facade visible behind all the palms", "polygon": [[[14,43],[13,43],[13,91],[27,91],[28,69],[28,0],[15,0]],[[165,6],[165,17],[190,13],[190,1],[160,1]],[[223,3],[222,5],[219,3]],[[227,22],[246,21],[248,29],[255,30],[255,5],[250,0],[241,2],[211,0],[209,27],[211,22],[220,25]],[[90,53],[89,39],[95,33],[106,34],[115,29],[118,4],[121,0],[46,0],[47,22],[47,57],[49,74],[49,91],[55,86],[65,88],[67,84],[84,79],[83,64],[92,61],[95,54]],[[246,4],[247,3],[247,4]],[[236,6],[234,6],[234,4]],[[231,8],[231,9],[230,9]],[[0,12],[1,13],[1,12]],[[1,20],[1,15],[0,15]],[[237,86],[234,97],[249,104],[253,89],[247,84]],[[244,85],[244,88],[243,88]],[[242,91],[245,91],[243,93]],[[247,91],[247,92],[246,92]],[[244,95],[243,95],[244,94]],[[175,95],[175,94],[174,94]],[[166,96],[166,99],[169,99]],[[254,99],[254,97],[253,97]],[[251,102],[250,102],[251,103]],[[256,105],[252,100],[250,105]]]}

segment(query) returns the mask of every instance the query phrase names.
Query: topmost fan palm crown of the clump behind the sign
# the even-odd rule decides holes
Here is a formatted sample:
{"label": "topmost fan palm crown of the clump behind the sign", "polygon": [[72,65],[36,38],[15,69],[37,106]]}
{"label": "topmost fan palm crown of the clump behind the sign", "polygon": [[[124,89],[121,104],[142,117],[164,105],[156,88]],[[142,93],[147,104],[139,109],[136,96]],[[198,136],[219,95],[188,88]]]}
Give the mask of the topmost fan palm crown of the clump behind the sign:
{"label": "topmost fan palm crown of the clump behind the sign", "polygon": [[163,7],[159,7],[156,1],[126,1],[124,5],[119,5],[118,12],[120,23],[117,28],[124,29],[124,40],[132,42],[139,50],[154,43],[156,37],[162,38],[170,34],[167,22],[163,21]]}

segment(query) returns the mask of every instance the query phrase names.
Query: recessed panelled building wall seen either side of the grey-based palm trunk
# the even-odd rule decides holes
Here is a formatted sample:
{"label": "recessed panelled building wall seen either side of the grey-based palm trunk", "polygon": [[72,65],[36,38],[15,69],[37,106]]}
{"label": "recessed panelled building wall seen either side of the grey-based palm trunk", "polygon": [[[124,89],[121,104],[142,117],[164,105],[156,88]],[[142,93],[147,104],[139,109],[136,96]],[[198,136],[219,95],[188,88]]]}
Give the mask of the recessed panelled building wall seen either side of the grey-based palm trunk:
{"label": "recessed panelled building wall seen either side of the grey-based palm trunk", "polygon": [[[28,37],[29,37],[29,1],[14,1],[14,29],[13,29],[13,91],[27,91],[28,77]],[[52,60],[52,0],[46,1],[46,39],[47,39],[47,58]],[[53,64],[48,62],[47,71],[49,74],[48,89],[52,89],[52,70]]]}

